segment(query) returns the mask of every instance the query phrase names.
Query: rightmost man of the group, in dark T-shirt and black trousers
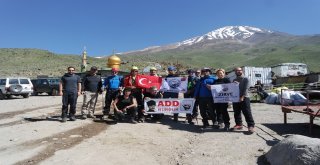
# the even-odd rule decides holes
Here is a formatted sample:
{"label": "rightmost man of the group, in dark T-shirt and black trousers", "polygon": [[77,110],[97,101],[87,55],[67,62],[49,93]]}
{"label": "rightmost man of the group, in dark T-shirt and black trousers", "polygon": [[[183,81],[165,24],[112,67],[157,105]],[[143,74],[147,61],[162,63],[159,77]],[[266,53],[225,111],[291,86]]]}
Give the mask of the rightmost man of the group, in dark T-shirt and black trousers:
{"label": "rightmost man of the group, in dark T-shirt and black trousers", "polygon": [[241,118],[241,111],[246,119],[248,124],[248,132],[254,132],[254,120],[251,113],[250,107],[250,98],[248,95],[249,89],[249,79],[243,76],[242,69],[240,67],[234,69],[236,73],[236,78],[233,82],[239,84],[239,91],[240,91],[240,100],[239,102],[233,103],[233,111],[234,111],[234,119],[236,125],[233,127],[234,130],[241,130],[242,126],[242,118]]}

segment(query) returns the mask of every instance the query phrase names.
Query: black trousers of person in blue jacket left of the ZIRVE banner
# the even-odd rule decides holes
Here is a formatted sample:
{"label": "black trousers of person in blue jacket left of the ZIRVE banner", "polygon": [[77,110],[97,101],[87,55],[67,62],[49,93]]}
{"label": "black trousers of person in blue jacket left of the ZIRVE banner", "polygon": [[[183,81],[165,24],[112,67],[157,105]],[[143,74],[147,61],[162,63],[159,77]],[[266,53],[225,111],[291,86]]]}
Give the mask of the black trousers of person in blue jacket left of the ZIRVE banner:
{"label": "black trousers of person in blue jacket left of the ZIRVE banner", "polygon": [[217,121],[217,114],[215,112],[212,97],[200,97],[199,108],[203,120],[208,121],[211,119],[213,122]]}

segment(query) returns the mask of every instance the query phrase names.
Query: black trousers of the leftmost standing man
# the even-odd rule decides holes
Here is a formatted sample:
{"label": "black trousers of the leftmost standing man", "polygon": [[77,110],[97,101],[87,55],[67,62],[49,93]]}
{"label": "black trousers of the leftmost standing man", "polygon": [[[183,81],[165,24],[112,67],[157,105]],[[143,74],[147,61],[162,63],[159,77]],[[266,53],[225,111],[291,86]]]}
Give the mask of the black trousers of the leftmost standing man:
{"label": "black trousers of the leftmost standing man", "polygon": [[69,109],[69,117],[72,117],[76,114],[76,106],[77,106],[78,93],[77,92],[63,92],[62,95],[62,114],[61,117],[65,118],[68,115],[68,106]]}

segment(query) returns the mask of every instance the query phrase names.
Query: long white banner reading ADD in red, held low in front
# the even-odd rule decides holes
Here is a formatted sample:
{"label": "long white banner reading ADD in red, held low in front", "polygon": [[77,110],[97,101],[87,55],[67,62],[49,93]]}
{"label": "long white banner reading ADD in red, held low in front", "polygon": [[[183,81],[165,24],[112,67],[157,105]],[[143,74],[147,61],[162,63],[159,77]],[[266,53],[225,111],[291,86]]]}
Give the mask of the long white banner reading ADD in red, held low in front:
{"label": "long white banner reading ADD in red, held low in front", "polygon": [[192,113],[195,99],[148,99],[144,109],[148,114],[156,113]]}

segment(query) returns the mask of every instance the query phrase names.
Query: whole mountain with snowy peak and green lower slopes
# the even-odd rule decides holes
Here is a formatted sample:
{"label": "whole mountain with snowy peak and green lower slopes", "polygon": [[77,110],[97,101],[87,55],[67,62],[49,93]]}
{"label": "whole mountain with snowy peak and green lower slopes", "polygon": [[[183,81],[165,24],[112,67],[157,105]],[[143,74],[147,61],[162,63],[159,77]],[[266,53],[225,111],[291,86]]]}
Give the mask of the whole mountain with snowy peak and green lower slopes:
{"label": "whole mountain with snowy peak and green lower slopes", "polygon": [[249,26],[227,26],[182,42],[123,53],[121,58],[136,65],[144,61],[178,63],[184,69],[303,62],[318,72],[319,54],[319,35],[294,36]]}

